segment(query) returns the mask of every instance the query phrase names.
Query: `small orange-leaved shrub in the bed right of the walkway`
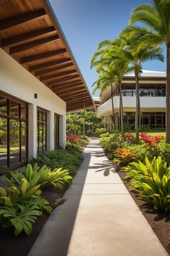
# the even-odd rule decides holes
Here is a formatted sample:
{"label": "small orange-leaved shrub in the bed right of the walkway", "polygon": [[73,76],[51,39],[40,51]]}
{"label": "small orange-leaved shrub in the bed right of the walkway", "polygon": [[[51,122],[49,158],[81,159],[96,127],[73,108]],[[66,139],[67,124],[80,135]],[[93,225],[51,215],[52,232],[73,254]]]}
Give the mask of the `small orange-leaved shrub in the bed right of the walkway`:
{"label": "small orange-leaved shrub in the bed right of the walkway", "polygon": [[134,150],[126,150],[125,148],[117,148],[117,150],[114,151],[114,156],[123,164],[128,164],[133,161],[136,157],[135,154],[136,152]]}

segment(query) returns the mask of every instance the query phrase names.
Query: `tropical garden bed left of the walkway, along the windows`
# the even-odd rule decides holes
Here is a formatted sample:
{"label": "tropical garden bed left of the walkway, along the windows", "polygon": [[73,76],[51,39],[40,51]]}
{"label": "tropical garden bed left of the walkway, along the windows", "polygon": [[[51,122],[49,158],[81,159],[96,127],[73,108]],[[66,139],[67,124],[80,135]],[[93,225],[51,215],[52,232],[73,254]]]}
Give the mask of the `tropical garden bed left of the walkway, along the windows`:
{"label": "tropical garden bed left of the walkway, along the windows", "polygon": [[[82,151],[87,144],[88,138],[86,136],[84,139],[82,139],[81,136],[69,136],[67,137],[66,150],[54,150],[40,154],[37,159],[34,158],[31,160],[31,163],[27,165],[25,172],[20,174],[19,172],[17,172],[18,174],[16,172],[12,172],[12,178],[4,179],[4,181],[7,182],[9,191],[6,192],[3,188],[0,188],[0,246],[2,255],[28,255],[41,229],[43,228],[43,225],[47,221],[50,212],[59,204],[63,203],[64,200],[62,200],[62,198],[83,161]],[[35,175],[36,177],[40,176],[40,178],[36,179]],[[25,176],[25,178],[23,176]],[[48,178],[52,176],[54,178],[49,181]],[[32,177],[32,179],[30,180],[29,177]],[[48,182],[46,183],[47,180]],[[25,183],[27,183],[26,186]],[[28,198],[26,197],[25,200],[22,200],[22,197],[26,196],[31,189],[28,188],[28,183],[30,184],[30,187],[33,187],[33,189],[36,186],[38,187],[32,191]],[[12,186],[15,187],[15,190],[19,190],[19,200],[16,199],[16,191],[14,192]],[[40,189],[42,190],[42,193],[40,193]],[[38,211],[40,214],[35,213],[34,215],[34,212],[32,212],[30,216],[26,215],[26,225],[23,225],[23,229],[16,225],[15,222],[10,223],[14,218],[5,216],[7,212],[3,213],[3,210],[13,208],[14,210],[17,209],[18,212],[20,210],[23,211],[23,214],[25,214],[25,212],[28,214],[28,212],[25,211],[26,207],[29,206],[29,210],[32,210],[31,207],[33,203],[35,205],[35,201],[32,201],[38,200],[40,197],[46,201],[39,204],[37,203],[38,206],[36,205],[36,207],[33,208],[33,210]],[[8,199],[10,200],[10,203],[8,203]],[[19,207],[20,209],[18,209]],[[23,207],[25,207],[25,209],[23,209]],[[33,219],[35,217],[37,217],[37,220],[35,221],[34,219],[34,223],[30,218]],[[16,218],[20,217],[17,215],[15,219]],[[30,224],[33,224],[32,230]],[[9,227],[6,227],[8,225]]]}

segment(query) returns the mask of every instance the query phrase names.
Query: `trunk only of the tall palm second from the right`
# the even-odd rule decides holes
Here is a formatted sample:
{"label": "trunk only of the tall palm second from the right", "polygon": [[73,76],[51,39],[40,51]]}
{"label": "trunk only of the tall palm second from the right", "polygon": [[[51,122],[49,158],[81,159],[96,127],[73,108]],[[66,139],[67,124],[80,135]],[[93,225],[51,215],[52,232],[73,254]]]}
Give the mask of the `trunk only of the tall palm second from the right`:
{"label": "trunk only of the tall palm second from the right", "polygon": [[139,99],[139,72],[135,70],[135,82],[136,82],[136,118],[135,118],[135,127],[136,127],[136,141],[139,141],[139,113],[140,113],[140,99]]}

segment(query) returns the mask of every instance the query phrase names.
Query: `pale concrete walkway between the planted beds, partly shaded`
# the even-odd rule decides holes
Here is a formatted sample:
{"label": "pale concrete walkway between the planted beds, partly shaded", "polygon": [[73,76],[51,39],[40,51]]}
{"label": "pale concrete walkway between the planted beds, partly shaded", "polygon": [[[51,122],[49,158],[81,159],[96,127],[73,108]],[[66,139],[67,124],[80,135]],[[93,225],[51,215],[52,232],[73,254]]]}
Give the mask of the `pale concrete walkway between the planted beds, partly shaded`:
{"label": "pale concrete walkway between the planted beds, partly shaded", "polygon": [[63,205],[48,218],[29,256],[167,256],[109,163],[90,140]]}

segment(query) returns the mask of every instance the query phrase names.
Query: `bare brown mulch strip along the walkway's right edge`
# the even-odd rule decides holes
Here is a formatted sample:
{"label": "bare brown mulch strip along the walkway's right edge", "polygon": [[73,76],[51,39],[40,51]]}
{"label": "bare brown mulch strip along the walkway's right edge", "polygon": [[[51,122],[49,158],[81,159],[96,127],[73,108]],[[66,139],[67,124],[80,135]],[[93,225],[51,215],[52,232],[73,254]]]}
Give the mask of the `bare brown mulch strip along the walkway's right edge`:
{"label": "bare brown mulch strip along the walkway's right edge", "polygon": [[[124,185],[129,191],[130,182],[124,180],[124,177],[126,177],[126,173],[119,172],[119,170],[123,166],[119,164],[113,164],[113,167],[115,168],[120,179],[122,179]],[[163,247],[170,255],[170,212],[154,210],[152,205],[144,202],[143,200],[137,199],[137,191],[129,191],[129,193],[141,210],[144,217],[151,225],[159,241],[162,243]]]}

